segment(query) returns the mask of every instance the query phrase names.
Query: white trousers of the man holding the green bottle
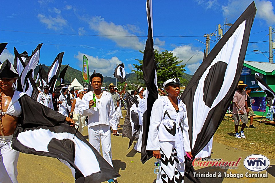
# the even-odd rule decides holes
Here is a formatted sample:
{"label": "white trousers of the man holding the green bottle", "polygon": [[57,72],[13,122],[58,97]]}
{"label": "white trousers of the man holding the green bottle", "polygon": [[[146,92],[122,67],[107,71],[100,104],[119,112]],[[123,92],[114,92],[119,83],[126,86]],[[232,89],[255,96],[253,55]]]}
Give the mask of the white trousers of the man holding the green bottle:
{"label": "white trousers of the man holding the green bottle", "polygon": [[100,153],[100,141],[102,146],[103,158],[111,165],[112,151],[111,151],[111,130],[108,125],[96,125],[88,127],[89,142]]}

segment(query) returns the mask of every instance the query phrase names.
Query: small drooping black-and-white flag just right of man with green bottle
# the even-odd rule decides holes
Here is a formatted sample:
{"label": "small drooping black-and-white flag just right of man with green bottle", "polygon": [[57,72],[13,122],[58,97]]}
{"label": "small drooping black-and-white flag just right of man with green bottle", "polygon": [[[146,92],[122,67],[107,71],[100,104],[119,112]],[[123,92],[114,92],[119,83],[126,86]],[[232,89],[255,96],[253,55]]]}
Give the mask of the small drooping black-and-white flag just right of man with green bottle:
{"label": "small drooping black-and-white flag just right of man with green bottle", "polygon": [[126,92],[126,101],[127,101],[127,112],[125,116],[125,121],[122,129],[122,137],[127,137],[130,139],[128,149],[133,144],[135,135],[140,130],[139,117],[138,117],[138,101]]}

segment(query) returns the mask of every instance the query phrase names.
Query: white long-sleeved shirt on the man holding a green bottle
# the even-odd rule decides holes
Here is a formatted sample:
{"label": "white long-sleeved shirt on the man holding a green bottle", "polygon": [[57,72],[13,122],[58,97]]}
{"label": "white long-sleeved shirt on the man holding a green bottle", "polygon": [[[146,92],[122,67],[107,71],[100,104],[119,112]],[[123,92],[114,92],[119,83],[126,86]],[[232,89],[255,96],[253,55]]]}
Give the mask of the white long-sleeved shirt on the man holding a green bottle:
{"label": "white long-sleeved shirt on the man holding a green bottle", "polygon": [[117,130],[117,120],[115,106],[111,94],[103,91],[101,98],[96,99],[96,107],[89,108],[89,102],[93,99],[93,92],[85,94],[79,105],[81,116],[88,116],[87,126],[96,126],[99,124],[109,125],[113,130]]}

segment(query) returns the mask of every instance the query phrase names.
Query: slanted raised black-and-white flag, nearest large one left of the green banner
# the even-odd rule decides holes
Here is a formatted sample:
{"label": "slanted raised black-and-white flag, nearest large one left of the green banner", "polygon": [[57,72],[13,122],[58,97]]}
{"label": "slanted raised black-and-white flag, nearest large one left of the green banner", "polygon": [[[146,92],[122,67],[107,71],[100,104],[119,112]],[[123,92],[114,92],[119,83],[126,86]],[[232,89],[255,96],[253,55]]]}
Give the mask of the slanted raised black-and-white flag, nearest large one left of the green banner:
{"label": "slanted raised black-and-white flag, nearest large one left of the green banner", "polygon": [[47,73],[47,83],[49,83],[49,92],[52,94],[54,91],[54,87],[56,85],[56,81],[58,78],[58,74],[60,71],[62,59],[63,59],[64,52],[59,53],[56,58],[54,59],[54,62],[52,63],[48,73]]}

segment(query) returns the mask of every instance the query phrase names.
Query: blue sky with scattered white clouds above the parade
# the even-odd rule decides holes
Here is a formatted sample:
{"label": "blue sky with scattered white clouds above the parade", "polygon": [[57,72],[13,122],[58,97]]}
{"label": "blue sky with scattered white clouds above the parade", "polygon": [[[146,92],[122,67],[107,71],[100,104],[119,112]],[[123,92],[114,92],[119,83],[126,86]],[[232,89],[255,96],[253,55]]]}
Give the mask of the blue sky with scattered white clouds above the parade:
{"label": "blue sky with scattered white clouds above the parade", "polygon": [[[206,33],[218,24],[234,23],[249,0],[153,0],[154,47],[172,51],[186,73],[193,74],[203,59]],[[268,41],[268,27],[275,27],[275,1],[255,1],[257,13],[250,42]],[[65,52],[62,64],[82,70],[83,54],[89,71],[111,76],[115,65],[124,62],[126,73],[133,70],[135,59],[143,59],[148,24],[146,0],[139,1],[1,1],[0,42],[8,42],[0,60],[12,60],[13,47],[31,54],[43,43],[40,63],[50,65],[56,55]],[[183,37],[186,36],[186,37]],[[199,41],[195,40],[198,39]],[[273,35],[274,39],[274,35]],[[213,48],[216,37],[211,37]],[[268,62],[262,53],[268,42],[249,43],[245,60]],[[256,54],[255,54],[256,53]],[[264,53],[268,57],[268,52]]]}

